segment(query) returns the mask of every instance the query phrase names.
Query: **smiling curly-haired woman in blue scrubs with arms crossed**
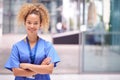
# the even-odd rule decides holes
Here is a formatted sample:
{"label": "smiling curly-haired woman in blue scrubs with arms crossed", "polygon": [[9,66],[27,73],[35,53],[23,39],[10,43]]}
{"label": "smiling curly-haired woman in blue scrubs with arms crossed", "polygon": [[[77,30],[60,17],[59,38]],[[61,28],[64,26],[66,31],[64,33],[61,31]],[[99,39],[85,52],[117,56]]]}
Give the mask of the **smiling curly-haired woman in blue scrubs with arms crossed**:
{"label": "smiling curly-haired woman in blue scrubs with arms crossed", "polygon": [[24,4],[18,22],[25,26],[27,36],[13,45],[5,68],[13,72],[15,80],[50,80],[60,59],[52,44],[38,36],[39,29],[49,26],[47,9],[42,4]]}

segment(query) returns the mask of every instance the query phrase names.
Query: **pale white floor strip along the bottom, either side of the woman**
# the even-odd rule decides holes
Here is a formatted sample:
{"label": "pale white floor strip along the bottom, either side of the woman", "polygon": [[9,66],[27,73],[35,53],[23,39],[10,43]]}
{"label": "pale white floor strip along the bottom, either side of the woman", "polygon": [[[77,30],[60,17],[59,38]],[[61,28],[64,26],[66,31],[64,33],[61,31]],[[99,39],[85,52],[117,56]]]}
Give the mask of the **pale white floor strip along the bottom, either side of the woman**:
{"label": "pale white floor strip along the bottom, either side of the woman", "polygon": [[[14,80],[12,74],[0,75],[1,80]],[[120,80],[118,74],[53,74],[51,80]]]}

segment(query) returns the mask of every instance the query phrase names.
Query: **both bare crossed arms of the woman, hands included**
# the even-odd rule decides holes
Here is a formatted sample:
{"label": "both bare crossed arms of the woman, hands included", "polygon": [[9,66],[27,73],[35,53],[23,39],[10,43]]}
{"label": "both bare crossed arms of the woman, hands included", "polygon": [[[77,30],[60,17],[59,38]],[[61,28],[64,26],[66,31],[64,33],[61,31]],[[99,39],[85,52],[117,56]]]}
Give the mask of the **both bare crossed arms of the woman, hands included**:
{"label": "both bare crossed arms of the woman, hands included", "polygon": [[35,74],[51,74],[54,68],[54,64],[50,63],[51,58],[45,58],[40,65],[21,63],[20,68],[13,68],[13,74],[15,76],[29,77]]}

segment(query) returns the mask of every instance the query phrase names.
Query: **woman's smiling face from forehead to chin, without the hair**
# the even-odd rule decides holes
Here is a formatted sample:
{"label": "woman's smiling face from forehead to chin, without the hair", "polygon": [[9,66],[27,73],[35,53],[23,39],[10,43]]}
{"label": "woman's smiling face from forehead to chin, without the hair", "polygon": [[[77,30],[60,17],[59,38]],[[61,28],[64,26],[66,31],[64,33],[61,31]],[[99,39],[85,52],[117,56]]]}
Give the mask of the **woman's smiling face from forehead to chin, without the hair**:
{"label": "woman's smiling face from forehead to chin, without the hair", "polygon": [[37,35],[40,28],[40,17],[36,14],[29,14],[26,17],[25,26],[28,35]]}

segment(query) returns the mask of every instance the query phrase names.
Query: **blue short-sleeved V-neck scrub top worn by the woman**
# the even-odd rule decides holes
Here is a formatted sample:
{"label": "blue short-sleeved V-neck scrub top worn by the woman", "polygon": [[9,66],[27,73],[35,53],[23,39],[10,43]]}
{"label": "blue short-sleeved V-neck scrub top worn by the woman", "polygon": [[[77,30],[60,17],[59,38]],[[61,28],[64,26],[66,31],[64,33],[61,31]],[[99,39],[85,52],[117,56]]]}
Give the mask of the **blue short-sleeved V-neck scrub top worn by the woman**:
{"label": "blue short-sleeved V-neck scrub top worn by the woman", "polygon": [[[35,48],[33,47],[32,52],[35,52],[34,50]],[[39,38],[34,64],[41,64],[46,57],[51,57],[51,63],[54,63],[54,67],[56,67],[56,64],[60,61],[53,45]],[[5,68],[12,71],[12,68],[19,68],[20,63],[31,63],[26,39],[13,45],[11,55],[5,64]],[[37,74],[35,75],[35,79],[16,76],[15,80],[50,80],[50,76],[49,74]]]}

